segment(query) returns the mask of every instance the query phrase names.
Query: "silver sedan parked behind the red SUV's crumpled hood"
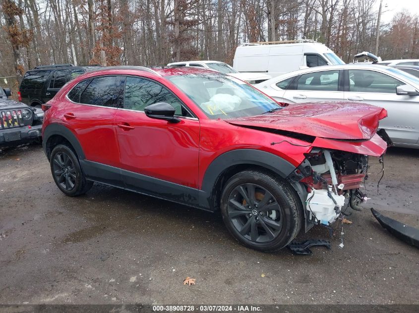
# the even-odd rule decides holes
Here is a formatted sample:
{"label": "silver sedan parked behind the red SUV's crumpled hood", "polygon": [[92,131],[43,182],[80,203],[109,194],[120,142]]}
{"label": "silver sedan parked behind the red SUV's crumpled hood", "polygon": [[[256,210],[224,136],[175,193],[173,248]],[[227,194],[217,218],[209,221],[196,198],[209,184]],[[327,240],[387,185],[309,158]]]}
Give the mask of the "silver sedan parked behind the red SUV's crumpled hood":
{"label": "silver sedan parked behind the red SUV's crumpled hood", "polygon": [[419,79],[376,64],[309,68],[254,85],[279,102],[355,101],[383,107],[380,122],[396,146],[419,148]]}

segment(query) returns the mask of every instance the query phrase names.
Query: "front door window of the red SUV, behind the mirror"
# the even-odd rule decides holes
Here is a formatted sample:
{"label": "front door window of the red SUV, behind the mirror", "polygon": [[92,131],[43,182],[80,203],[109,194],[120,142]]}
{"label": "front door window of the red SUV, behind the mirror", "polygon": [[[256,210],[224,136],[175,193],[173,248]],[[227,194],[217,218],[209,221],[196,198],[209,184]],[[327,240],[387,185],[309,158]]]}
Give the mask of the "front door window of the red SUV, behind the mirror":
{"label": "front door window of the red SUV, behind the mirror", "polygon": [[178,116],[191,117],[180,100],[162,85],[148,79],[127,77],[125,82],[124,109],[144,111],[144,108],[157,102],[167,102],[175,108]]}

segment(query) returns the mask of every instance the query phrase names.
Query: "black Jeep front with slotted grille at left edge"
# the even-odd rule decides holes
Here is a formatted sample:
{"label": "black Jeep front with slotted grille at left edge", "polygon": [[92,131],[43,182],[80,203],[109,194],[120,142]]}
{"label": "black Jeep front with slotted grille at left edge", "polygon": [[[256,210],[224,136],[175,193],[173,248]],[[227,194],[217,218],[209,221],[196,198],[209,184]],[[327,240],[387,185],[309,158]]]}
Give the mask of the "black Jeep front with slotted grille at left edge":
{"label": "black Jeep front with slotted grille at left edge", "polygon": [[41,140],[44,112],[8,97],[10,89],[0,88],[0,147]]}

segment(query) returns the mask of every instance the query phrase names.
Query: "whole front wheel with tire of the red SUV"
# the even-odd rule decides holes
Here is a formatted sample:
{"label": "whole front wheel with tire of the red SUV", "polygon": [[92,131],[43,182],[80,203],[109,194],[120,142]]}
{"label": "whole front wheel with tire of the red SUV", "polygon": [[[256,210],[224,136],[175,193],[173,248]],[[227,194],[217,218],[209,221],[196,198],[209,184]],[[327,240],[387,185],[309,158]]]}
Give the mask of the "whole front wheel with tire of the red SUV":
{"label": "whole front wheel with tire of the red SUV", "polygon": [[242,171],[229,179],[221,196],[223,221],[243,245],[277,251],[298,234],[301,203],[285,180],[258,170]]}

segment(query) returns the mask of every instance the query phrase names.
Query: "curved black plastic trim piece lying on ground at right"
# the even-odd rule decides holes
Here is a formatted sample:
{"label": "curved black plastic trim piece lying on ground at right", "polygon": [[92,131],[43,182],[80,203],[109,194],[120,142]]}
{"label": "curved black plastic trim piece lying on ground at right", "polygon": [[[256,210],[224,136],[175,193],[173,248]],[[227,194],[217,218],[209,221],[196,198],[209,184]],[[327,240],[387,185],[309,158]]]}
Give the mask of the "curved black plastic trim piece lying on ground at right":
{"label": "curved black plastic trim piece lying on ground at right", "polygon": [[390,219],[371,208],[372,215],[394,236],[404,242],[419,248],[419,229]]}

